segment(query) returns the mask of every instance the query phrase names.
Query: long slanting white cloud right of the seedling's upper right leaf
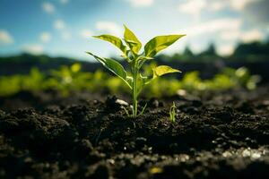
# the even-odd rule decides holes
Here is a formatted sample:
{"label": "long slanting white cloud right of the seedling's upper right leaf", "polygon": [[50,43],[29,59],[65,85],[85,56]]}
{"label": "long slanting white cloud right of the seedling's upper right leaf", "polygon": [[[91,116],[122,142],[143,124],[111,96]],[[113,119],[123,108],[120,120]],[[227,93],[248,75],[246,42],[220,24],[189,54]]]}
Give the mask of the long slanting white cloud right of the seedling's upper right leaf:
{"label": "long slanting white cloud right of the seedling's upper right leaf", "polygon": [[188,36],[197,36],[201,34],[209,34],[222,30],[239,30],[242,21],[239,19],[218,19],[208,22],[203,22],[186,30]]}

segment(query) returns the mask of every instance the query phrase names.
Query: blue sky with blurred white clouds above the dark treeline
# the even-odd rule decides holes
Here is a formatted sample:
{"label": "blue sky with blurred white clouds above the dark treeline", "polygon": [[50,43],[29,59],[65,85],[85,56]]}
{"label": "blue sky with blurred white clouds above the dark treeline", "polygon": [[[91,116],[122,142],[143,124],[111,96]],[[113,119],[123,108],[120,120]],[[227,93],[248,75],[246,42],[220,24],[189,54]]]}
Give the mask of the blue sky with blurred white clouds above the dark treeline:
{"label": "blue sky with blurred white clouds above the dark treeline", "polygon": [[123,24],[145,44],[187,34],[163,51],[195,53],[211,43],[230,55],[239,42],[269,39],[269,0],[0,0],[0,56],[27,52],[91,60],[120,55],[92,35],[123,37]]}

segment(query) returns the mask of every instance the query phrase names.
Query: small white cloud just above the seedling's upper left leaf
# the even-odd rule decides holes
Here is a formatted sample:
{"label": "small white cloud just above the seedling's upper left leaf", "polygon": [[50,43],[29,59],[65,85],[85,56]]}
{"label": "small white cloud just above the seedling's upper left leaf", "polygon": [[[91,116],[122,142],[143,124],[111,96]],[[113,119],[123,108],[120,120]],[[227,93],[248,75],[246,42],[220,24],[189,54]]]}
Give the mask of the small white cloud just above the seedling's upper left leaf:
{"label": "small white cloud just above the seedling's upper left leaf", "polygon": [[116,36],[121,34],[121,28],[113,21],[98,21],[96,23],[96,29]]}

